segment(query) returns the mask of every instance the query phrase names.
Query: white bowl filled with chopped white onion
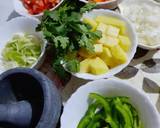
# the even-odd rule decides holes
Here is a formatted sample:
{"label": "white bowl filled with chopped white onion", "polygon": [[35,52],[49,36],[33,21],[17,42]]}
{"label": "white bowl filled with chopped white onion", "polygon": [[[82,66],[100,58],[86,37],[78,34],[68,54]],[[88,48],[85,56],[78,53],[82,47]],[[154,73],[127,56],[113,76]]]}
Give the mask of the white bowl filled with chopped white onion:
{"label": "white bowl filled with chopped white onion", "polygon": [[160,4],[154,0],[127,0],[123,1],[119,8],[121,14],[134,25],[139,47],[148,50],[159,49]]}

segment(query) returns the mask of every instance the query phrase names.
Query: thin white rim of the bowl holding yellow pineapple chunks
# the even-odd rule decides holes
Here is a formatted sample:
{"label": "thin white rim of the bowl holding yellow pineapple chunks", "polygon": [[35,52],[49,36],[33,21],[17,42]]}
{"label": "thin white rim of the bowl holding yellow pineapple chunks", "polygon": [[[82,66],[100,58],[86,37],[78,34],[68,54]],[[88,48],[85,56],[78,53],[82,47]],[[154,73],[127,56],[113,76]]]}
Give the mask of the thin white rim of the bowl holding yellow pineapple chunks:
{"label": "thin white rim of the bowl holding yellow pineapple chunks", "polygon": [[[133,59],[133,57],[136,53],[137,46],[138,46],[138,39],[137,39],[136,31],[135,31],[133,25],[131,24],[131,22],[127,18],[122,16],[121,14],[118,14],[118,13],[116,13],[114,11],[111,11],[111,10],[108,10],[108,9],[93,9],[90,12],[84,13],[84,15],[92,13],[92,12],[102,12],[103,14],[106,14],[106,15],[111,14],[111,15],[113,15],[113,17],[116,16],[116,17],[118,17],[118,19],[120,18],[125,23],[127,23],[129,25],[129,30],[131,31],[132,36],[133,36],[133,41],[132,42],[134,42],[134,47],[132,49],[132,52],[130,52],[131,54],[130,54],[130,57],[128,57],[127,62],[119,65],[119,66],[121,66],[121,68],[117,69],[115,73],[107,72],[107,73],[102,74],[102,75],[93,75],[93,74],[89,74],[89,73],[72,73],[71,72],[71,74],[73,76],[76,76],[76,77],[82,78],[82,79],[86,79],[86,80],[96,80],[96,79],[110,78],[110,77],[113,77],[115,74],[119,73],[120,71],[122,71],[125,67],[127,67],[129,65],[129,63],[131,62],[131,60]],[[113,69],[110,69],[109,71],[111,71]],[[109,73],[110,73],[110,75],[108,75]]]}

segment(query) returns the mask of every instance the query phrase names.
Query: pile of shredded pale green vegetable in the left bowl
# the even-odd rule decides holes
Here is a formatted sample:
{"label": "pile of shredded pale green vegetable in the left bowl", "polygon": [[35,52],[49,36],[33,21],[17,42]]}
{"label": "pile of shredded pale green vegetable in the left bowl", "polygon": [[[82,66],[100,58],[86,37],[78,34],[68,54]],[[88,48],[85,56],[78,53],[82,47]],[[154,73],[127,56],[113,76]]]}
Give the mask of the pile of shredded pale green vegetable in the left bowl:
{"label": "pile of shredded pale green vegetable in the left bowl", "polygon": [[34,35],[14,35],[3,49],[6,62],[16,63],[17,67],[30,67],[41,54],[41,41]]}

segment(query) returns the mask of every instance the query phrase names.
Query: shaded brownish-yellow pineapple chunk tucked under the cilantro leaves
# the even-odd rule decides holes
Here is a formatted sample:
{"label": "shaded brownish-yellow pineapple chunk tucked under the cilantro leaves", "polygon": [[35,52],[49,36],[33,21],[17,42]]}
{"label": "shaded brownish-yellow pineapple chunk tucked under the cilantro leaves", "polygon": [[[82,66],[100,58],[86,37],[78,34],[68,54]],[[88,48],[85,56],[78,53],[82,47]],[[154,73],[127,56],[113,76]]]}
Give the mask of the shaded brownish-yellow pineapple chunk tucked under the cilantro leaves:
{"label": "shaded brownish-yellow pineapple chunk tucked under the cilantro leaves", "polygon": [[95,53],[91,53],[89,51],[87,51],[86,49],[84,48],[81,48],[78,52],[78,54],[81,56],[81,57],[84,57],[84,58],[90,58],[90,57],[93,57],[95,56]]}

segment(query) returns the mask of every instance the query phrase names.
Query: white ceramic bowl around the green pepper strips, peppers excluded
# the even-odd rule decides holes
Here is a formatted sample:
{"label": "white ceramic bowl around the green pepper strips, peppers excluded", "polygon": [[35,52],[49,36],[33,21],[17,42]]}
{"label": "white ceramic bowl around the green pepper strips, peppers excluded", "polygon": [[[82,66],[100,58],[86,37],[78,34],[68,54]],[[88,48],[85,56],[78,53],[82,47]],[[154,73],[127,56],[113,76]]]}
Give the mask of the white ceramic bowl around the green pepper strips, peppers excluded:
{"label": "white ceramic bowl around the green pepper strips, peppers excluded", "polygon": [[118,79],[96,80],[80,87],[67,101],[61,116],[61,128],[77,128],[88,108],[91,92],[104,96],[127,96],[139,113],[144,128],[160,128],[160,117],[147,95]]}

